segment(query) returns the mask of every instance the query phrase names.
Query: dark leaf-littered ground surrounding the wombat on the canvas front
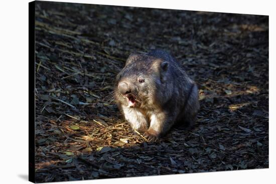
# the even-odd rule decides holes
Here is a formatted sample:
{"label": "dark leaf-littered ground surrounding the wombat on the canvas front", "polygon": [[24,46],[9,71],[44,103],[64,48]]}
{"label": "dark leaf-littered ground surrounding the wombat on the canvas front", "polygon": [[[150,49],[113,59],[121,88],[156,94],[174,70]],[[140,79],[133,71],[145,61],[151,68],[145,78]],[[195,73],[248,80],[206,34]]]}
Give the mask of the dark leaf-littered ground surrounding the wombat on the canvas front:
{"label": "dark leaf-littered ground surrounding the wombat on the canvas front", "polygon": [[[111,98],[133,52],[170,51],[195,79],[193,129],[134,135]],[[36,4],[36,181],[268,167],[268,17]]]}

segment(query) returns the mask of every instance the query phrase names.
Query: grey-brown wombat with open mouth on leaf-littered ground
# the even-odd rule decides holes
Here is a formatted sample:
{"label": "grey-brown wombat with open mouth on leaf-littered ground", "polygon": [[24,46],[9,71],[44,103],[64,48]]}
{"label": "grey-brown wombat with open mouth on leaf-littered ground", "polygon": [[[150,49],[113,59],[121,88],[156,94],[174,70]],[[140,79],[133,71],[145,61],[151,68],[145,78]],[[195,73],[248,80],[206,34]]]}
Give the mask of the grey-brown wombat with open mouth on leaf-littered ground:
{"label": "grey-brown wombat with open mouth on leaf-littered ground", "polygon": [[130,123],[149,140],[176,124],[193,125],[199,110],[198,88],[167,52],[130,54],[115,83],[115,101]]}

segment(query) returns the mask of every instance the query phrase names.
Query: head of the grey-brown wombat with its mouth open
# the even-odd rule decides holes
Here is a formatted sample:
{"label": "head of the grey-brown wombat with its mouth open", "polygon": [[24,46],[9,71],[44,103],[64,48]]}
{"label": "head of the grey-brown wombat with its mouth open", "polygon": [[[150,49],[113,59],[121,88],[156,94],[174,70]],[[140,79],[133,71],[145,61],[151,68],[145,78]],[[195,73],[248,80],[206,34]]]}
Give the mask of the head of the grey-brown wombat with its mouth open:
{"label": "head of the grey-brown wombat with its mouth open", "polygon": [[148,55],[131,54],[116,77],[115,98],[127,107],[148,108],[162,98],[169,63]]}

